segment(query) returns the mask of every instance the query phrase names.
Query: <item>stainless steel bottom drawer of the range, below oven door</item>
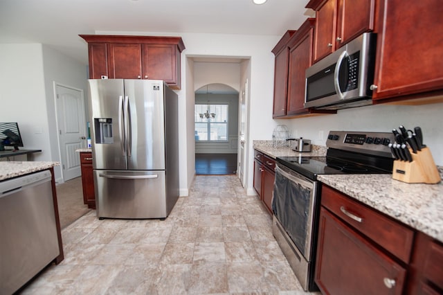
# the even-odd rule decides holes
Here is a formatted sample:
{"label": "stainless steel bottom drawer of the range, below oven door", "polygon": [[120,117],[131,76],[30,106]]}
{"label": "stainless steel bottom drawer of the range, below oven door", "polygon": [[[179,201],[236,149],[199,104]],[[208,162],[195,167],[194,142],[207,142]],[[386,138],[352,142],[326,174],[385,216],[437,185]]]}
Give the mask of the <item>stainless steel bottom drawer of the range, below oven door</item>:
{"label": "stainless steel bottom drawer of the range, below oven door", "polygon": [[308,289],[308,269],[309,262],[302,256],[302,253],[298,251],[297,247],[287,233],[284,231],[282,224],[278,222],[277,218],[272,218],[272,233],[277,241],[284,256],[286,256],[293,273],[296,274],[302,288]]}

